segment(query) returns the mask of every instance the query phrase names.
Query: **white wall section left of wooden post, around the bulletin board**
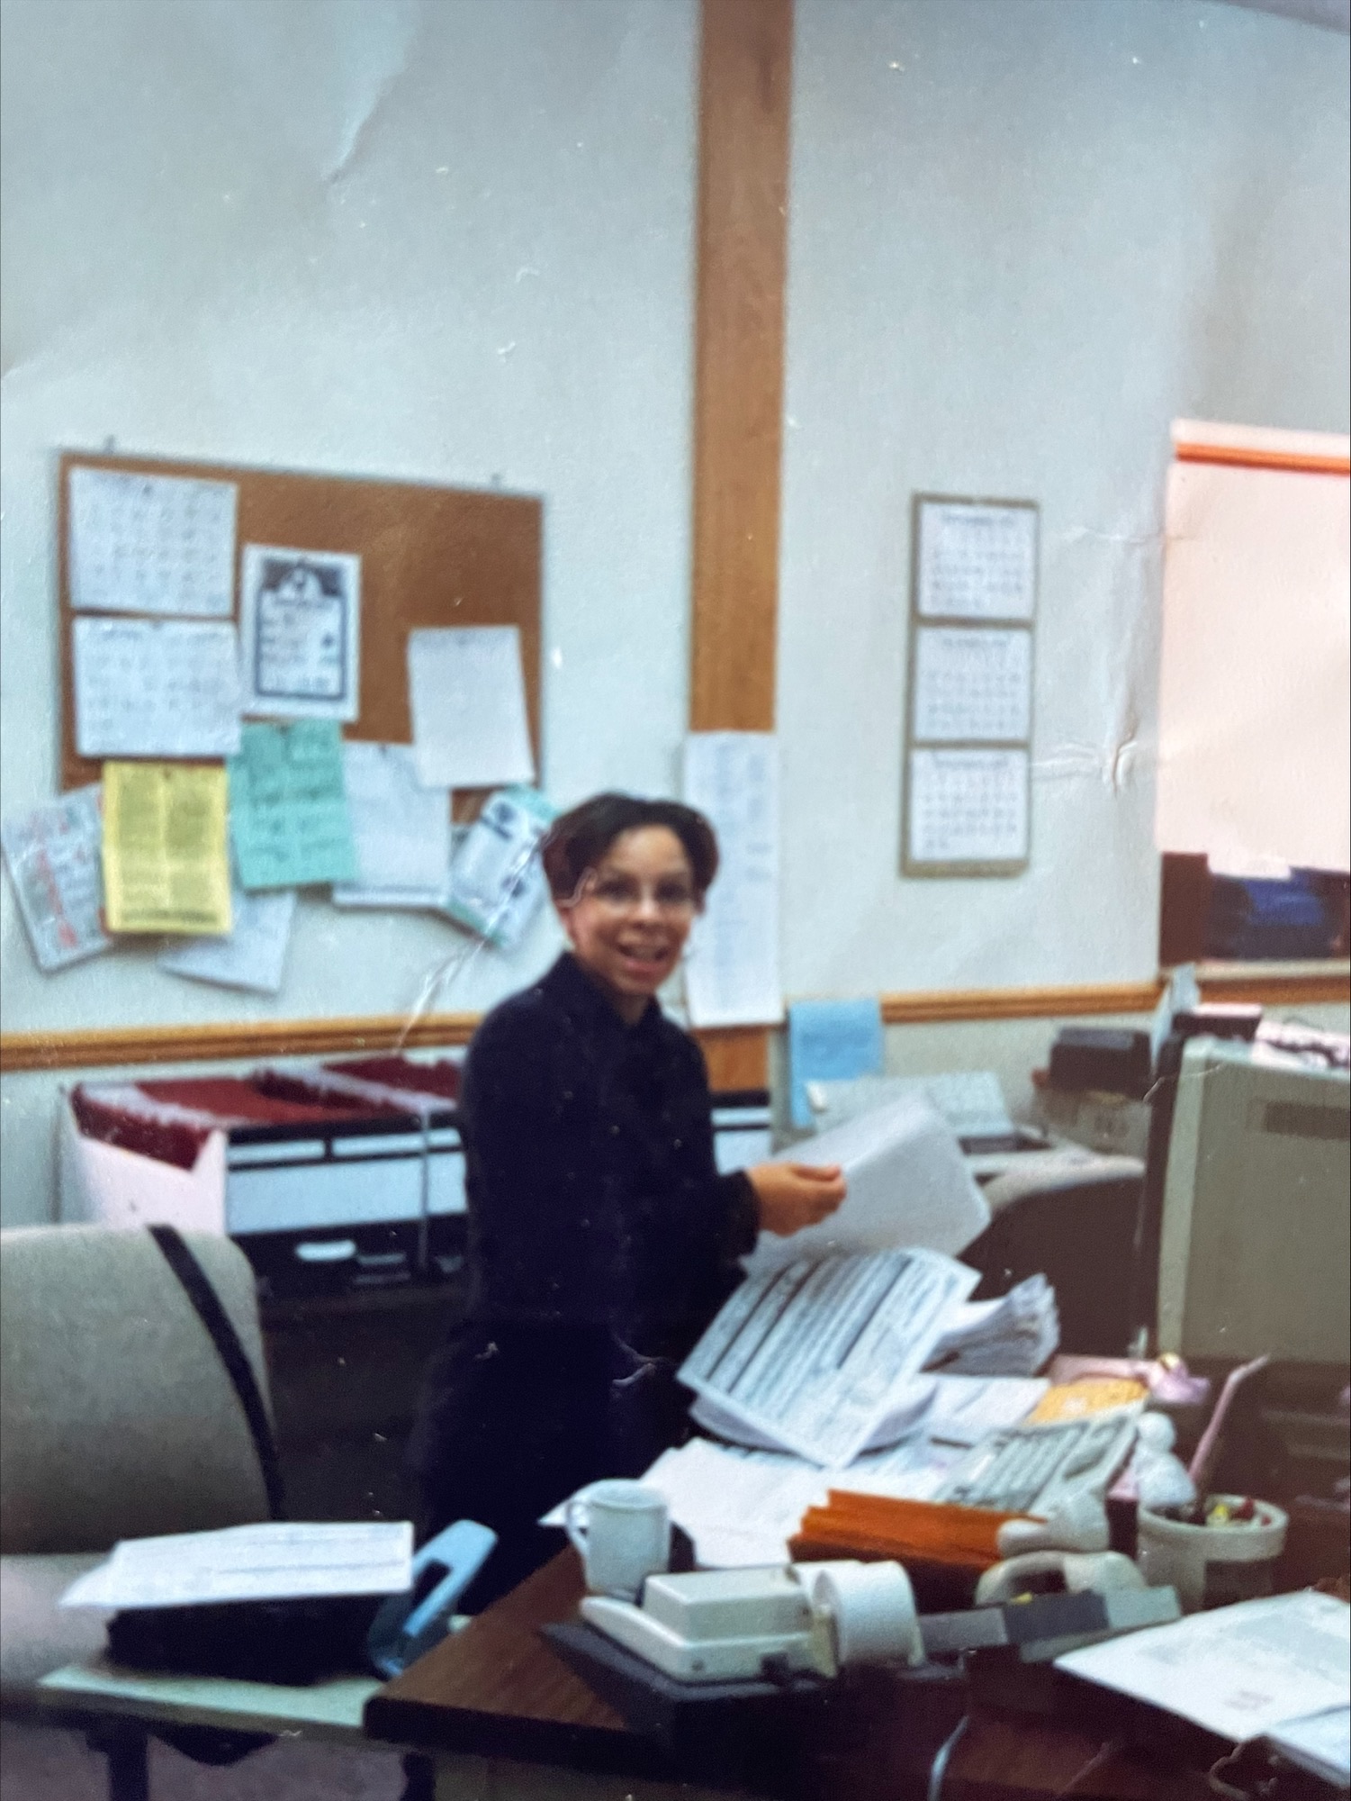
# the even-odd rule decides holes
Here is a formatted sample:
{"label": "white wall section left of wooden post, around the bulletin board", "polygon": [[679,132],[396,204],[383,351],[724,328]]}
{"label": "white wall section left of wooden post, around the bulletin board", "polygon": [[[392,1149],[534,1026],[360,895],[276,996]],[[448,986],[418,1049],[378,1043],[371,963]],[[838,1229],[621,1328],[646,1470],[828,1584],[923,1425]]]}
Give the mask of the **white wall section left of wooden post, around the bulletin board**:
{"label": "white wall section left of wooden post, around the bulletin board", "polygon": [[[5,0],[4,32],[5,810],[58,767],[54,452],[106,438],[544,495],[548,787],[670,789],[694,0]],[[254,1003],[150,951],[43,976],[0,910],[29,1030],[400,1010],[465,942],[312,902]]]}

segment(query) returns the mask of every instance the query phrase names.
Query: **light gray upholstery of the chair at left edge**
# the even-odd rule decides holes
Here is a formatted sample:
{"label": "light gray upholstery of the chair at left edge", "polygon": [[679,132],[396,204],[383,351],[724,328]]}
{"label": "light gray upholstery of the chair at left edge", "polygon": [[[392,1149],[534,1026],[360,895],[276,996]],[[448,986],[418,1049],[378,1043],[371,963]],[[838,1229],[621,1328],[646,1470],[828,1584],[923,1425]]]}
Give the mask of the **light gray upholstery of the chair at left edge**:
{"label": "light gray upholstery of the chair at left edge", "polygon": [[[267,1399],[254,1277],[223,1237],[184,1234]],[[0,1232],[0,1698],[103,1644],[56,1601],[119,1538],[268,1515],[243,1407],[146,1232]]]}

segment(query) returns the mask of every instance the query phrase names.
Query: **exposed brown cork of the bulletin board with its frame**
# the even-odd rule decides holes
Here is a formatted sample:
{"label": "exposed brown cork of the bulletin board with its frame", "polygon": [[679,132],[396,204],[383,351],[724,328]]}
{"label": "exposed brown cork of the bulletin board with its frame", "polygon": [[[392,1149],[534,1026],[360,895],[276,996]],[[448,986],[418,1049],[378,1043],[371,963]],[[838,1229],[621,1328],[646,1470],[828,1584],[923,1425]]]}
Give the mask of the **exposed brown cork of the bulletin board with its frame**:
{"label": "exposed brown cork of the bulletin board with its frame", "polygon": [[[58,584],[61,654],[61,785],[97,782],[101,764],[76,749],[72,688],[70,472],[115,470],[236,484],[232,618],[247,544],[360,557],[360,713],[344,737],[409,744],[407,638],[420,627],[515,625],[526,717],[539,767],[542,502],[495,490],[366,481],[180,463],[155,457],[59,457]],[[135,618],[135,614],[131,614]],[[150,614],[148,614],[150,616]],[[456,814],[481,796],[456,794]]]}

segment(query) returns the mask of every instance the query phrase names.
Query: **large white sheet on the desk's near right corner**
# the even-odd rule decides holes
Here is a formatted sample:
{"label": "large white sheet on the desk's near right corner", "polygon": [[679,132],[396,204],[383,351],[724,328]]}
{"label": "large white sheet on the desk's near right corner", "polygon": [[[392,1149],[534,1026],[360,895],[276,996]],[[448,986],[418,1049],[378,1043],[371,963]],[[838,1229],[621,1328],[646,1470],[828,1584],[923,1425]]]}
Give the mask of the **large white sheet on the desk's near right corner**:
{"label": "large white sheet on the desk's near right corner", "polygon": [[1056,1668],[1243,1742],[1346,1706],[1351,1608],[1311,1588],[1239,1601],[1068,1652]]}

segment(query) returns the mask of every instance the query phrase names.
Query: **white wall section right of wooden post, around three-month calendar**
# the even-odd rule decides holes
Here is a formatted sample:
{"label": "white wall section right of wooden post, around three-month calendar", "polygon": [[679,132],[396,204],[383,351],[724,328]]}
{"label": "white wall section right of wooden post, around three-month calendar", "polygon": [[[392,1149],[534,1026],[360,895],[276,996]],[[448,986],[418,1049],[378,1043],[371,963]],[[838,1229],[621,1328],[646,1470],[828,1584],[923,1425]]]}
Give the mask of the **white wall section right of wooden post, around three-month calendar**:
{"label": "white wall section right of wooden post, around three-month calendar", "polygon": [[[787,991],[1151,974],[1167,429],[1347,427],[1346,40],[1196,0],[796,0],[789,263]],[[917,490],[1041,506],[1011,881],[899,875]]]}

